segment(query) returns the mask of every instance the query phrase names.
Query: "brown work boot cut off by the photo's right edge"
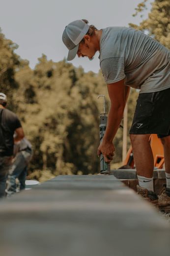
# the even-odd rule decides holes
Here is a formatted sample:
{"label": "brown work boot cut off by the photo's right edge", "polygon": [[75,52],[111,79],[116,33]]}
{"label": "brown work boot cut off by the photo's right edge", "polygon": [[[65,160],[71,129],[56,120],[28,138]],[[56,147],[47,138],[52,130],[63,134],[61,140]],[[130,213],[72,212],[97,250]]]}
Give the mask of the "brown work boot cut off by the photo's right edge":
{"label": "brown work boot cut off by the photo's right edge", "polygon": [[166,185],[163,185],[163,189],[158,198],[159,209],[170,213],[170,189],[167,189]]}

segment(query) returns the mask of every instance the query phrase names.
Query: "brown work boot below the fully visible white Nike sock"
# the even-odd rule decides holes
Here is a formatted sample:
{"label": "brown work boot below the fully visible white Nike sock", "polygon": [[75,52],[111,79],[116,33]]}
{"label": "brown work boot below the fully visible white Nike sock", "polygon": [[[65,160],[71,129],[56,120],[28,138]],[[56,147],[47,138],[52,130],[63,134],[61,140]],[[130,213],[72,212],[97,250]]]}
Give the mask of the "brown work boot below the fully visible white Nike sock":
{"label": "brown work boot below the fully visible white Nike sock", "polygon": [[145,200],[151,202],[154,206],[158,206],[158,196],[153,191],[148,191],[145,188],[140,187],[137,185],[137,192],[141,195]]}

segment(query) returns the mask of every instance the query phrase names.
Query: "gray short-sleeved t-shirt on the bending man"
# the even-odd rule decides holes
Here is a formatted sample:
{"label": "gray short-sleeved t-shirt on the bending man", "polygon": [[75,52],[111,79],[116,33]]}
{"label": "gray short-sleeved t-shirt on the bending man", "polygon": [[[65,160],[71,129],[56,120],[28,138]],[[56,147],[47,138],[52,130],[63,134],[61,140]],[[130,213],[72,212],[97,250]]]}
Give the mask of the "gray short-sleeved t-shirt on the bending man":
{"label": "gray short-sleeved t-shirt on the bending man", "polygon": [[151,93],[170,88],[170,51],[148,35],[125,27],[102,30],[100,67],[107,84]]}

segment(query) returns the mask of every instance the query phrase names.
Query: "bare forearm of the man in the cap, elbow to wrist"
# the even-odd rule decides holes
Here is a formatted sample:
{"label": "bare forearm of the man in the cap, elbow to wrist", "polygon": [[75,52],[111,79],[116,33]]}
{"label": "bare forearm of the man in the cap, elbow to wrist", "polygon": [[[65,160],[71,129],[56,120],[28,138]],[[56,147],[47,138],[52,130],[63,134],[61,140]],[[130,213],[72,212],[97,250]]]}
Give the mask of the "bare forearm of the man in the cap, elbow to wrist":
{"label": "bare forearm of the man in the cap, elbow to wrist", "polygon": [[123,117],[124,108],[121,106],[118,109],[115,109],[112,105],[108,115],[107,128],[105,135],[103,137],[104,141],[112,142],[113,138],[117,132],[117,129],[120,126],[122,117]]}

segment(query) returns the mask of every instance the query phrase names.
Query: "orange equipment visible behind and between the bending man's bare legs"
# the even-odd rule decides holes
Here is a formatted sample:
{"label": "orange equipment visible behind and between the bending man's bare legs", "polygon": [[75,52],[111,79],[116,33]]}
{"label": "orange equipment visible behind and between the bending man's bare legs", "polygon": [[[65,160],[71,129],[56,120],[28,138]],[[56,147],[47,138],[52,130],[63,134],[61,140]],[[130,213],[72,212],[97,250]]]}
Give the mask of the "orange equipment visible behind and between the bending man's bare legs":
{"label": "orange equipment visible behind and between the bending man's bare legs", "polygon": [[[161,139],[158,138],[157,134],[151,134],[149,141],[153,153],[154,167],[162,169],[164,165],[164,148],[161,143]],[[123,161],[123,166],[121,168],[123,167],[125,169],[135,168],[132,146],[129,148],[127,152],[126,159]]]}

